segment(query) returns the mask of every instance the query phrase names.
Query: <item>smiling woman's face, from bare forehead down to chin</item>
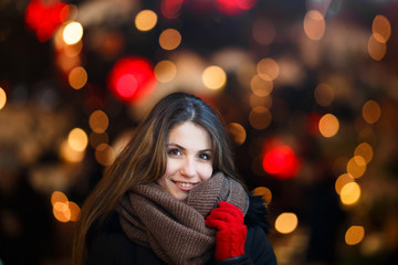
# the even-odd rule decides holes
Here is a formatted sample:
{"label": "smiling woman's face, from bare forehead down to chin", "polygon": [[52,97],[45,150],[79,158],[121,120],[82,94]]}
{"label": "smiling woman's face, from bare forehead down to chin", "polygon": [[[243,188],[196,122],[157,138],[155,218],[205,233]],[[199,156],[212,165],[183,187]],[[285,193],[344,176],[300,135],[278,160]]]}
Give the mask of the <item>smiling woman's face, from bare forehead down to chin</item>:
{"label": "smiling woman's face, from bare forehead down to chin", "polygon": [[166,171],[157,183],[179,201],[212,174],[213,150],[209,132],[186,121],[174,126],[167,137]]}

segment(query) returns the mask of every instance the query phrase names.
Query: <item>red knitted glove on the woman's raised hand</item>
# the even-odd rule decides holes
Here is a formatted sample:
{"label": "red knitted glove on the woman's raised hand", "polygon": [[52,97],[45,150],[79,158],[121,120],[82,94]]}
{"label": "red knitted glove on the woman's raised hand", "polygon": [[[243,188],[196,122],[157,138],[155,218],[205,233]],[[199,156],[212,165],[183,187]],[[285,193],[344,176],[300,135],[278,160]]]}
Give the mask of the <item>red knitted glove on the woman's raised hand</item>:
{"label": "red knitted glove on the woman's raised hand", "polygon": [[219,208],[211,210],[205,223],[210,229],[218,230],[216,233],[216,261],[244,254],[248,229],[243,224],[243,213],[239,208],[222,201],[219,203]]}

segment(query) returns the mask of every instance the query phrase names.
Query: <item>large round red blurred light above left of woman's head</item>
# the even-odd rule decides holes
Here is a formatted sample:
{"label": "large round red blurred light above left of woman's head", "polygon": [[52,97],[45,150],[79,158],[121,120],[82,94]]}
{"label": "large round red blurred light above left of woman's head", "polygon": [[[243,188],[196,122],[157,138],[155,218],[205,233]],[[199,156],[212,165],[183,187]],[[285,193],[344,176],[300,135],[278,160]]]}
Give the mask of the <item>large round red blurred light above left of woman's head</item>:
{"label": "large round red blurred light above left of woman's head", "polygon": [[121,59],[108,75],[111,91],[126,103],[133,103],[149,94],[156,84],[151,63],[144,57]]}

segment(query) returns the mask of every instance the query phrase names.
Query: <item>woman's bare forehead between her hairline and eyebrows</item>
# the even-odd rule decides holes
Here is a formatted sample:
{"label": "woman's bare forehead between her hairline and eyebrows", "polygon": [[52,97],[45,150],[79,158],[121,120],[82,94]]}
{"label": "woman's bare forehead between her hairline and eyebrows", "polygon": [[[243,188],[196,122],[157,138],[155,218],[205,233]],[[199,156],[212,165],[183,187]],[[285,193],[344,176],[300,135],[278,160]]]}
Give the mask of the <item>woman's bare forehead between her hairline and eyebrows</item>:
{"label": "woman's bare forehead between her hairline and eyebrows", "polygon": [[210,149],[211,140],[207,129],[191,121],[185,121],[171,127],[167,136],[167,144],[196,149]]}

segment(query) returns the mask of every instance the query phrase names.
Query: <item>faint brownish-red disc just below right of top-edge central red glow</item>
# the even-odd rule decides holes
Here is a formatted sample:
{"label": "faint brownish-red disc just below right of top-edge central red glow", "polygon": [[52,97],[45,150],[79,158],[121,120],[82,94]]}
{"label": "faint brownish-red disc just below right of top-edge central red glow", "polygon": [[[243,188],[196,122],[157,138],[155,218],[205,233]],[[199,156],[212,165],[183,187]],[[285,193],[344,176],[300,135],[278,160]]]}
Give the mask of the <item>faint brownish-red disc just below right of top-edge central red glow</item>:
{"label": "faint brownish-red disc just below right of top-edge central red glow", "polygon": [[275,25],[272,21],[259,18],[252,25],[252,35],[256,43],[261,45],[270,45],[275,39]]}

